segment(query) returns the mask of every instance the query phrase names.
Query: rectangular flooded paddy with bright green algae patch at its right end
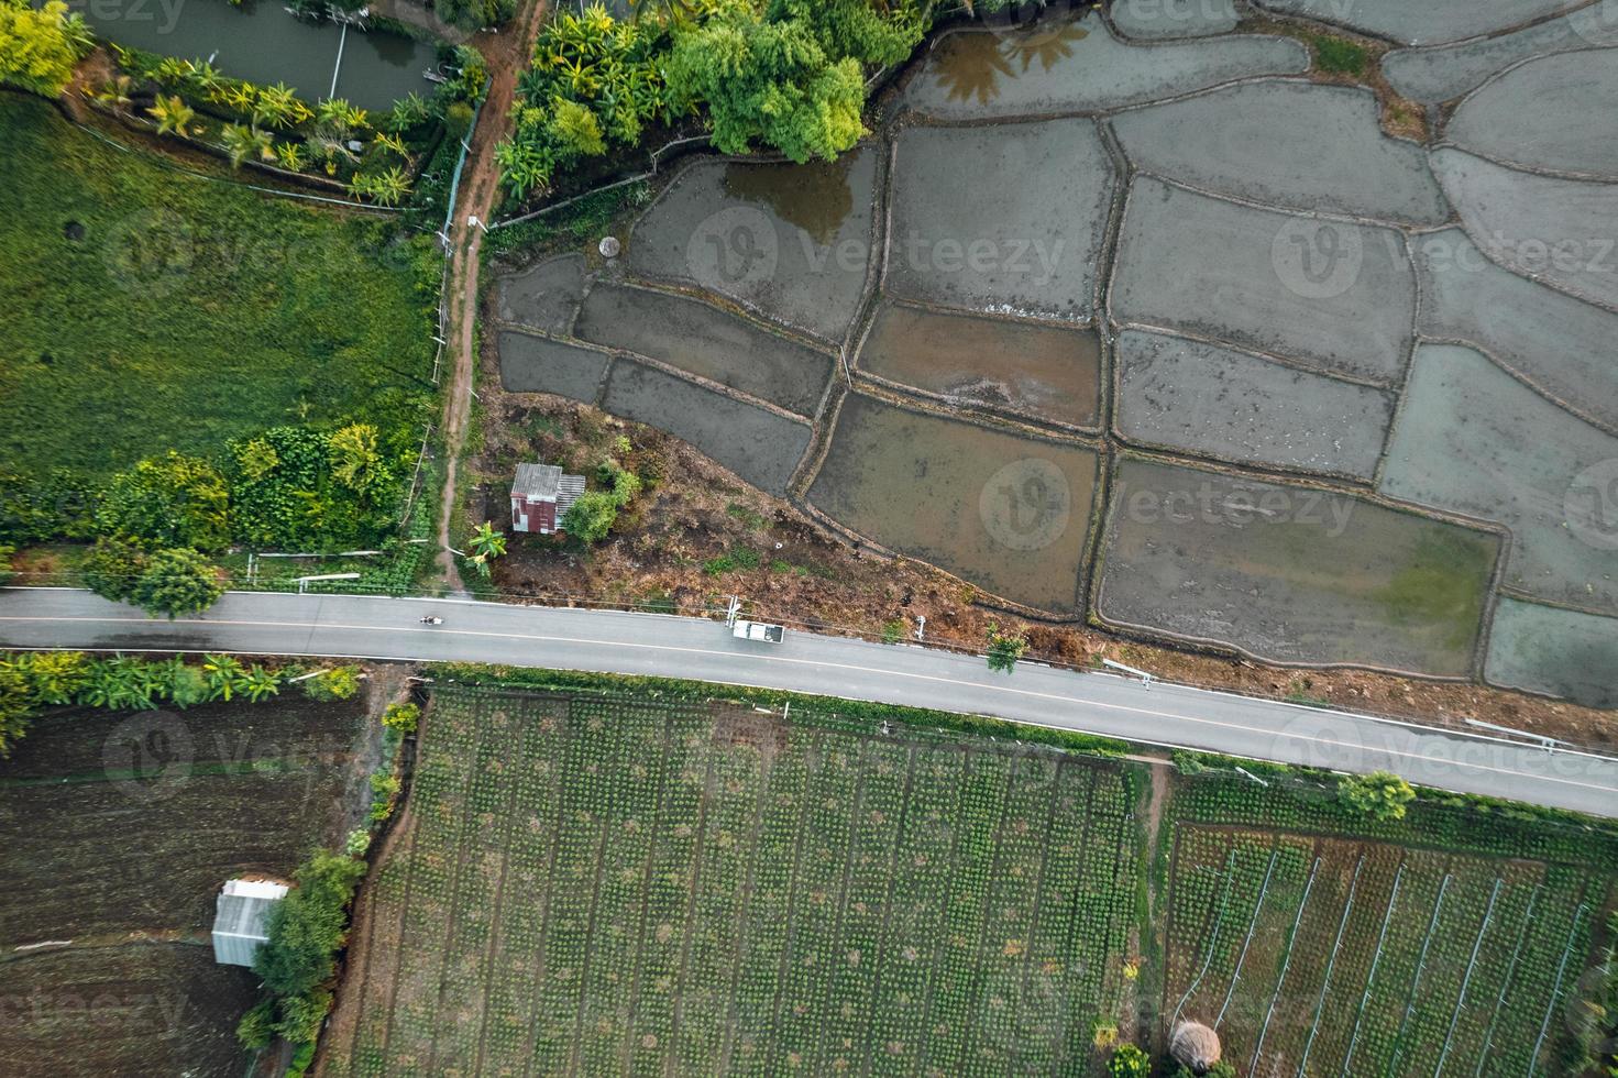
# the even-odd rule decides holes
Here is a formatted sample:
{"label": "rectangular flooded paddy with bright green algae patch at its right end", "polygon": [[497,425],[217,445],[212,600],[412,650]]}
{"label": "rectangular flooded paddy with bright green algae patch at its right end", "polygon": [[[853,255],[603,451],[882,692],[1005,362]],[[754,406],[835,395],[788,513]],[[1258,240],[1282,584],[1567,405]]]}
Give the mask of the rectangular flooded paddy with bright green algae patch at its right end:
{"label": "rectangular flooded paddy with bright green algae patch at its right end", "polygon": [[1125,460],[1095,609],[1277,662],[1464,678],[1497,552],[1349,494]]}

